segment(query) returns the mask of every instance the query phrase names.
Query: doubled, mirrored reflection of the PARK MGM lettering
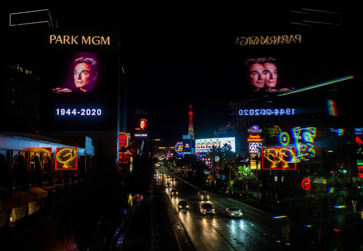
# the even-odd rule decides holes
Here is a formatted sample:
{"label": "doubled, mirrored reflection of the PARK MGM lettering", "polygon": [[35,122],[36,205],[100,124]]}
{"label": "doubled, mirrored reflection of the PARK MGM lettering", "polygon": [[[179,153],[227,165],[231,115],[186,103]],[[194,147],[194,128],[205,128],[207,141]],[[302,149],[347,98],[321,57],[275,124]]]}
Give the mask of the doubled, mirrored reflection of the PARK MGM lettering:
{"label": "doubled, mirrored reflection of the PARK MGM lettering", "polygon": [[300,44],[301,35],[237,37],[234,41],[235,45],[276,45],[290,43]]}

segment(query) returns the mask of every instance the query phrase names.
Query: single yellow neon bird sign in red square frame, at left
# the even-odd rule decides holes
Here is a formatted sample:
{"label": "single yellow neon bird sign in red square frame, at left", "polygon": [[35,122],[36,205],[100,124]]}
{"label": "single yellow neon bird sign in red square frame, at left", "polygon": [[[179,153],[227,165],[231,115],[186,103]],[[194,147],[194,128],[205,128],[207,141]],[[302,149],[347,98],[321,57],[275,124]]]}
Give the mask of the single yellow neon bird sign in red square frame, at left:
{"label": "single yellow neon bird sign in red square frame, at left", "polygon": [[77,147],[56,147],[56,170],[77,170]]}

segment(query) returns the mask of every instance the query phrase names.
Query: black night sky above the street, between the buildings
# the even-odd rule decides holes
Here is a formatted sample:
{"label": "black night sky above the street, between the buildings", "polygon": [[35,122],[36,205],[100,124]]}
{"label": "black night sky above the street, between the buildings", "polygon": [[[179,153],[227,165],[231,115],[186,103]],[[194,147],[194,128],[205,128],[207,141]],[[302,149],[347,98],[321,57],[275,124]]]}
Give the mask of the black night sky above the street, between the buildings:
{"label": "black night sky above the street, between the buildings", "polygon": [[[39,8],[50,9],[53,22],[64,29],[119,30],[129,118],[135,109],[147,110],[154,137],[172,145],[187,133],[190,101],[196,138],[213,136],[231,120],[229,101],[243,95],[231,74],[233,38],[246,30],[291,30],[290,10],[302,7],[23,5],[3,10],[1,21],[8,22],[3,15],[8,12]],[[342,12],[339,6],[324,10]],[[352,23],[350,15],[343,17]]]}

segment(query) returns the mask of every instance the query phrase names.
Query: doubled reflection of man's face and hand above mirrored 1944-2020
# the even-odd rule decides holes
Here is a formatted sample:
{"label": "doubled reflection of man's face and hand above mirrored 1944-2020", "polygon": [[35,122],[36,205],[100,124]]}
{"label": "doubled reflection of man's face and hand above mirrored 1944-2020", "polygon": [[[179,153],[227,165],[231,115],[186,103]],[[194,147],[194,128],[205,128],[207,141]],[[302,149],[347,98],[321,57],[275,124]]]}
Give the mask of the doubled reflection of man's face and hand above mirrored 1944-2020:
{"label": "doubled reflection of man's face and hand above mirrored 1944-2020", "polygon": [[249,58],[246,61],[249,72],[249,81],[253,92],[287,92],[295,88],[277,88],[277,64],[272,57]]}

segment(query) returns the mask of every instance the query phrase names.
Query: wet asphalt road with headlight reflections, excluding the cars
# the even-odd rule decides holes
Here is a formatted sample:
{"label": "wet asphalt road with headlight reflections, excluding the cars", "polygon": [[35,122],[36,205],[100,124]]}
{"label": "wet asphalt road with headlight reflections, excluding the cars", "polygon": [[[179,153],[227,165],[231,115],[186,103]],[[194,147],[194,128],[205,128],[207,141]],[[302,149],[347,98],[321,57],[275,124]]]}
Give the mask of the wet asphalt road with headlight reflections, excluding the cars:
{"label": "wet asphalt road with headlight reflections, excluding the cars", "polygon": [[[176,211],[179,201],[188,202],[189,211],[181,210],[178,214],[196,250],[363,250],[361,221],[348,217],[344,209],[332,209],[323,216],[273,218],[278,215],[209,193],[208,202],[215,207],[216,214],[201,216],[202,201],[197,198],[200,190],[182,177],[169,174],[176,180],[162,176],[160,186],[164,185],[169,198],[171,189],[179,191],[178,197],[170,198]],[[167,182],[171,188],[165,186]],[[243,216],[229,218],[227,207],[240,208]]]}

